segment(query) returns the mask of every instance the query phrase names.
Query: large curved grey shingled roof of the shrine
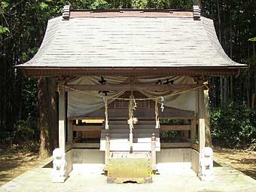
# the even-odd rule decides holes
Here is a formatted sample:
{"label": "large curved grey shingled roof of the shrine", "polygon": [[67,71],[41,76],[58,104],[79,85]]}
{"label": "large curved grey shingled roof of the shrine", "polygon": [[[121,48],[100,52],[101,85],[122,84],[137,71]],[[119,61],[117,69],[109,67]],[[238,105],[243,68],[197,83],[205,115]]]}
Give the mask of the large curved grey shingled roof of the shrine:
{"label": "large curved grey shingled roof of the shrine", "polygon": [[[199,19],[199,20],[198,20]],[[212,20],[191,11],[71,11],[49,20],[21,69],[224,68],[245,65],[221,47]]]}

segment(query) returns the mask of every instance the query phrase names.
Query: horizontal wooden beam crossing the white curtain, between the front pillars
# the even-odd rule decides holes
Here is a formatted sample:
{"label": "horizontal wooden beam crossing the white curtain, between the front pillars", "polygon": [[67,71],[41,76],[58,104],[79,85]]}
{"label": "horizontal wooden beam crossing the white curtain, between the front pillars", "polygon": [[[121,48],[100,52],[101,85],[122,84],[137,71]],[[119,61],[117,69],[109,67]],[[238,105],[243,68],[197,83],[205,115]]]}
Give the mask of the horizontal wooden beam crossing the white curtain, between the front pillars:
{"label": "horizontal wooden beam crossing the white curtain, between the front pillars", "polygon": [[[64,85],[63,85],[64,86]],[[131,84],[69,84],[66,90],[131,90]],[[133,84],[133,90],[190,90],[200,84]],[[60,86],[62,87],[62,86]]]}

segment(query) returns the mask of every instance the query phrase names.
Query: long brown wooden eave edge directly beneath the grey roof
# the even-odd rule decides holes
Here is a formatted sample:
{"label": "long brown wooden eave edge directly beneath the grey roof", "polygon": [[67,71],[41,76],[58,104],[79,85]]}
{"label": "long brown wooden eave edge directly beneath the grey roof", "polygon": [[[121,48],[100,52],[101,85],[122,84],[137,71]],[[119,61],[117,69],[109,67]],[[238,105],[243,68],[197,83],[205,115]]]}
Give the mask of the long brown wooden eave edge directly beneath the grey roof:
{"label": "long brown wooden eave edge directly beneath the grey roof", "polygon": [[224,75],[239,75],[241,67],[170,67],[170,68],[21,68],[21,70],[26,77],[50,77],[50,76],[84,76],[84,75],[118,75],[126,77],[134,76],[148,76],[148,75],[161,75],[161,76],[224,76]]}

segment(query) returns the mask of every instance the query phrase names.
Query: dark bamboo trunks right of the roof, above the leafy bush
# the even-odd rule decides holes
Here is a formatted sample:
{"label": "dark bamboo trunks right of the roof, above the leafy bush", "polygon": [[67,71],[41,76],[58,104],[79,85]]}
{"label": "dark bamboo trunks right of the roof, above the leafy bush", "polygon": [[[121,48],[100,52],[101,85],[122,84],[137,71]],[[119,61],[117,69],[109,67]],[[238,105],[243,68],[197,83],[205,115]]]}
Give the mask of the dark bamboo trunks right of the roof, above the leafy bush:
{"label": "dark bamboo trunks right of the roof, above the leafy bush", "polygon": [[251,105],[256,93],[256,1],[203,0],[203,14],[215,21],[216,32],[225,52],[236,62],[246,63],[238,77],[212,78],[212,106],[223,102]]}

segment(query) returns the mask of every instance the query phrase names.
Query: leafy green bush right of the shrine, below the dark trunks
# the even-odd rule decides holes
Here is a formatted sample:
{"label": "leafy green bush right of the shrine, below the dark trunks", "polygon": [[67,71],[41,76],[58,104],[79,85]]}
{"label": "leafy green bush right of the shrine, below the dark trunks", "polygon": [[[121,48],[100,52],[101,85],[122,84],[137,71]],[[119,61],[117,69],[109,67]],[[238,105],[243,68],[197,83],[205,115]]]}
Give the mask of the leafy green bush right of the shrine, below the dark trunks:
{"label": "leafy green bush right of the shrine, below the dark trunks", "polygon": [[215,145],[249,147],[256,144],[256,108],[234,102],[211,111],[212,139]]}

